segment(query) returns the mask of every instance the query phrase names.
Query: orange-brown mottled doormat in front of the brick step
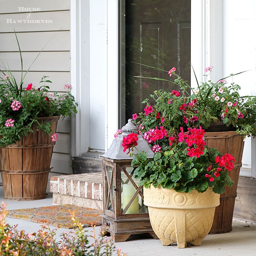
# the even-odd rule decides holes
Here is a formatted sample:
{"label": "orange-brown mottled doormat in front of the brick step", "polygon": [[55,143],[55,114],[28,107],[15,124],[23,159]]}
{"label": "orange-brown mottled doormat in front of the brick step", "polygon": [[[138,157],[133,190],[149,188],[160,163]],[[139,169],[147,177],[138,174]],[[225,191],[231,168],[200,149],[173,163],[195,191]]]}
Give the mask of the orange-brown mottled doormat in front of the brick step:
{"label": "orange-brown mottled doormat in front of the brick step", "polygon": [[6,217],[24,219],[37,223],[44,223],[58,228],[74,229],[71,213],[75,213],[77,222],[81,222],[84,227],[101,226],[102,210],[84,208],[70,204],[17,209],[6,211]]}

